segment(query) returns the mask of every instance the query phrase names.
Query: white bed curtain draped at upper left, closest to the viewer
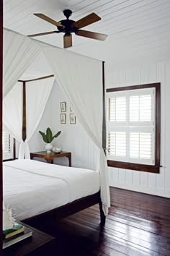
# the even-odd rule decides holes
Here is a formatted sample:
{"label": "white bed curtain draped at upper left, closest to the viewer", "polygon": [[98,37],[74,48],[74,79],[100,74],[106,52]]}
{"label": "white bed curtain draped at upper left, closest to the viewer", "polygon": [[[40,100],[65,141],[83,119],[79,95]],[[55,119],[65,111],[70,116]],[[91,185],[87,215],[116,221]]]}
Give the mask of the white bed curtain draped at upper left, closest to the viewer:
{"label": "white bed curtain draped at upper left, closest to the viewer", "polygon": [[4,29],[3,37],[3,97],[5,97],[40,54],[40,47],[30,38],[11,30]]}

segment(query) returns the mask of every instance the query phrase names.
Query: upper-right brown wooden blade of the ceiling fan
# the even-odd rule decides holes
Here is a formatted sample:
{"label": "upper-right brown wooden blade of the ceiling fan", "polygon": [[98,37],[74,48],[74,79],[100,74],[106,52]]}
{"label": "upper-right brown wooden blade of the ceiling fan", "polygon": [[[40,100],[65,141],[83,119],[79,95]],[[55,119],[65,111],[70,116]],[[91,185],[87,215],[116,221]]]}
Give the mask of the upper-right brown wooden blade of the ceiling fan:
{"label": "upper-right brown wooden blade of the ceiling fan", "polygon": [[77,27],[77,28],[86,27],[87,25],[90,25],[90,24],[92,24],[94,22],[97,22],[99,20],[101,20],[101,17],[99,17],[94,12],[92,12],[91,14],[89,14],[86,17],[82,18],[81,20],[73,22],[73,26]]}

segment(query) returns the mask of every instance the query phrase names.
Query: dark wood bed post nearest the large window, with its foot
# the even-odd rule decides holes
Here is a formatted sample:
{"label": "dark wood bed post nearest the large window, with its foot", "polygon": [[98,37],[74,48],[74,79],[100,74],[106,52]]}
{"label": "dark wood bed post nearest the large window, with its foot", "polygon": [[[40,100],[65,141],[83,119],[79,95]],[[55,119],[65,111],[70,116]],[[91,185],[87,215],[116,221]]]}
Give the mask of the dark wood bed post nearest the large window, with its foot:
{"label": "dark wood bed post nearest the large window, with its foot", "polygon": [[[103,84],[103,121],[102,121],[102,148],[105,152],[106,148],[106,114],[105,114],[105,70],[104,70],[105,62],[102,61],[102,84]],[[102,201],[99,200],[99,210],[100,210],[100,224],[104,226],[106,221],[106,216],[104,215],[102,209]]]}

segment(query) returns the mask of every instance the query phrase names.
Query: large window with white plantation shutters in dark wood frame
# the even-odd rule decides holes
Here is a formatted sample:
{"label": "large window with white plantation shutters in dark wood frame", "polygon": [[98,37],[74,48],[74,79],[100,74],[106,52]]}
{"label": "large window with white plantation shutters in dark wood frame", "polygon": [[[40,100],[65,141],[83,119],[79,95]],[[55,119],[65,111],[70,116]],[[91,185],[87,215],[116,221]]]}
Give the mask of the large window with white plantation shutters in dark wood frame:
{"label": "large window with white plantation shutters in dark wood frame", "polygon": [[[118,90],[120,89],[120,90]],[[107,159],[115,167],[158,172],[160,84],[107,90]],[[156,106],[156,102],[159,106]],[[160,121],[160,117],[159,117]],[[159,151],[159,150],[158,150]],[[123,164],[125,163],[125,164]],[[114,164],[112,164],[114,166]],[[154,169],[153,167],[156,166]],[[133,168],[132,168],[133,167]],[[143,170],[144,168],[144,170]],[[155,171],[156,170],[156,171]]]}

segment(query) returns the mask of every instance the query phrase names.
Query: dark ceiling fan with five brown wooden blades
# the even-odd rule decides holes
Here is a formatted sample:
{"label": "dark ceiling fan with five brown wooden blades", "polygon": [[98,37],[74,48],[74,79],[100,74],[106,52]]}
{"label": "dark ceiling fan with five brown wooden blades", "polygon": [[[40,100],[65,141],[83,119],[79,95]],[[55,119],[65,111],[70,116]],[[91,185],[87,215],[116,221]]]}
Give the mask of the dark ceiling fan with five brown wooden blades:
{"label": "dark ceiling fan with five brown wooden blades", "polygon": [[55,20],[52,20],[50,17],[45,16],[41,13],[35,13],[35,16],[39,17],[42,20],[45,20],[46,22],[50,22],[51,24],[57,26],[58,30],[56,31],[50,31],[45,33],[39,33],[39,34],[33,34],[28,35],[29,37],[35,37],[39,35],[50,35],[53,33],[65,33],[63,35],[63,47],[68,48],[72,46],[72,35],[71,33],[75,33],[76,35],[83,36],[85,38],[92,38],[96,40],[105,40],[107,38],[107,35],[101,34],[101,33],[95,33],[87,30],[81,30],[81,27],[86,27],[87,25],[91,25],[94,22],[97,22],[101,20],[101,18],[92,12],[91,14],[87,15],[86,17],[82,18],[81,20],[74,21],[69,20],[69,17],[72,14],[72,11],[69,9],[66,9],[63,11],[63,14],[66,16],[66,20],[61,20],[60,22],[56,22]]}

